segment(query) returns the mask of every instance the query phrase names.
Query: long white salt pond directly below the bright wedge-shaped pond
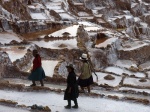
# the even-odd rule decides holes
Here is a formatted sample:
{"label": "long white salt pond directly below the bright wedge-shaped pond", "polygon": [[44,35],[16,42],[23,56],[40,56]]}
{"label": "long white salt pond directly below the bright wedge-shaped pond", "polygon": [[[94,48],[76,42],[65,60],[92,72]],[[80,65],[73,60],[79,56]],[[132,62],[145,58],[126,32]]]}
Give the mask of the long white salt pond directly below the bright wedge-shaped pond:
{"label": "long white salt pond directly below the bright wedge-shaped pond", "polygon": [[[51,49],[63,49],[63,48],[68,48],[68,49],[77,49],[77,40],[74,39],[69,39],[69,40],[55,40],[55,41],[49,41],[45,42],[44,40],[41,41],[32,41],[32,43],[38,45],[39,47],[43,48],[51,48]],[[59,45],[66,45],[67,47],[59,47]]]}

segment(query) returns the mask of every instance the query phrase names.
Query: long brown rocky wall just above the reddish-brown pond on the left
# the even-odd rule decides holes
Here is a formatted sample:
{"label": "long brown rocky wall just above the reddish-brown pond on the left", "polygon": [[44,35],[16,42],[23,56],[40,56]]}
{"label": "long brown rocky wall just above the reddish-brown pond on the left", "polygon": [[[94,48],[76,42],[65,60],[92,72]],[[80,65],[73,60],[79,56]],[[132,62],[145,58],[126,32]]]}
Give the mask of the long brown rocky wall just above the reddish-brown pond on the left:
{"label": "long brown rocky wall just above the reddish-brown pond on the left", "polygon": [[6,30],[13,30],[14,32],[18,34],[24,34],[24,33],[31,33],[31,32],[37,32],[42,31],[46,29],[52,29],[52,28],[61,28],[63,27],[62,23],[57,22],[51,22],[51,21],[8,21],[6,19],[0,19],[0,28],[2,28],[4,31]]}

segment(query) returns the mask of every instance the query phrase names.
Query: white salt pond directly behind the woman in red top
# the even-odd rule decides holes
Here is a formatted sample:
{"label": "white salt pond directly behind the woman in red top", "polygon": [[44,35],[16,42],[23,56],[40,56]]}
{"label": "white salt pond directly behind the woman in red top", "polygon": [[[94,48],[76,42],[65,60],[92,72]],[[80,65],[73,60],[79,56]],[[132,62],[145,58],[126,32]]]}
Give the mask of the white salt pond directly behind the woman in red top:
{"label": "white salt pond directly behind the woman in red top", "polygon": [[53,77],[54,68],[59,61],[42,60],[42,67],[45,71],[46,76]]}

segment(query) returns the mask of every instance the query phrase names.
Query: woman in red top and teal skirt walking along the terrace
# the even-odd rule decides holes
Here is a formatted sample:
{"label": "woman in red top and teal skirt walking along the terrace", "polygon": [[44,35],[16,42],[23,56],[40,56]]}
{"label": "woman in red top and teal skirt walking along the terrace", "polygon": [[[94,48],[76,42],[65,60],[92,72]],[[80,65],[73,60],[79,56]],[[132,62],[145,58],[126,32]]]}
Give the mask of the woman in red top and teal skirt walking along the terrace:
{"label": "woman in red top and teal skirt walking along the terrace", "polygon": [[45,78],[45,72],[41,66],[41,57],[37,50],[33,50],[32,54],[34,56],[33,68],[30,76],[28,77],[29,80],[32,80],[32,84],[30,86],[36,86],[35,81],[40,81],[41,86],[44,86],[43,79]]}

